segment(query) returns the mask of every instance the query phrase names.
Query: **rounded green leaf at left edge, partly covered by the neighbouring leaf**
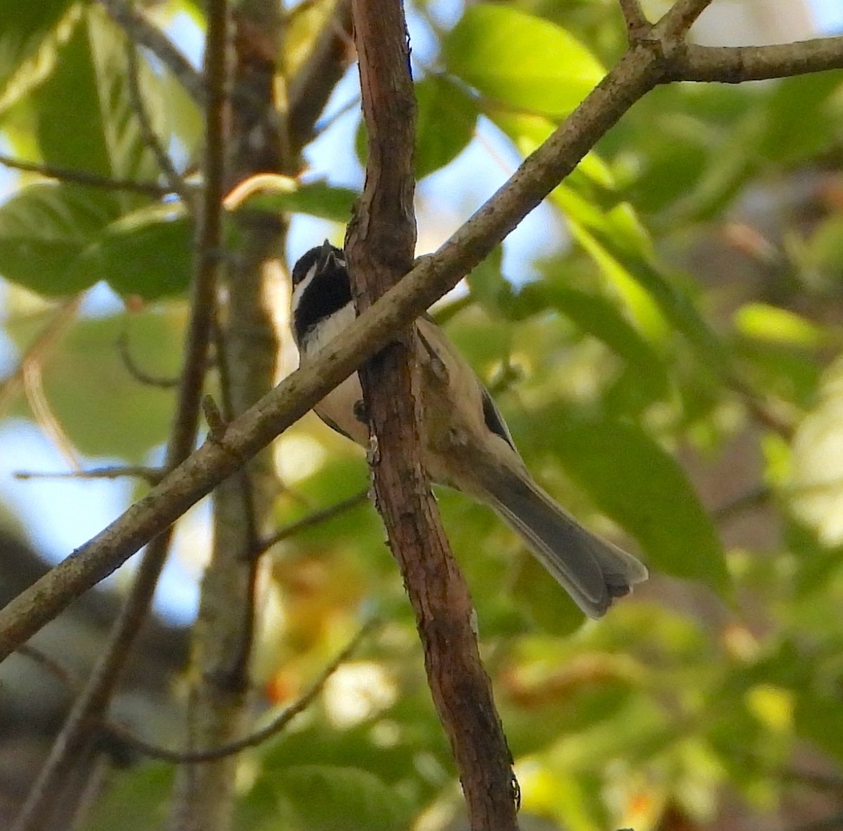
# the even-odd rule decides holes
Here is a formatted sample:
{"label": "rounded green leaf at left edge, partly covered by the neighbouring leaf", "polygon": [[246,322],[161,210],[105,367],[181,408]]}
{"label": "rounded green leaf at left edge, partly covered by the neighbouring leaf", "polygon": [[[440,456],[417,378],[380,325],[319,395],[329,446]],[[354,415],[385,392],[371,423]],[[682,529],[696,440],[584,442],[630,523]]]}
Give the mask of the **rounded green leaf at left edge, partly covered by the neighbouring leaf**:
{"label": "rounded green leaf at left edge, partly covered by the neighbouring leaf", "polygon": [[24,188],[0,206],[0,273],[40,294],[73,294],[99,279],[74,260],[118,215],[110,193],[65,183]]}

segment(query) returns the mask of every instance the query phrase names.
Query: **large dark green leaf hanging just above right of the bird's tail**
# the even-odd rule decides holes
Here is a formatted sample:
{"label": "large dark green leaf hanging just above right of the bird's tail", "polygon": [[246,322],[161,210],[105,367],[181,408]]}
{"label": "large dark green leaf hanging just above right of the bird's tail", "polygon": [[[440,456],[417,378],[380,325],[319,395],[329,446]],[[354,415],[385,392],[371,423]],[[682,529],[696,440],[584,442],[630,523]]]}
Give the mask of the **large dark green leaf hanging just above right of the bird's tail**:
{"label": "large dark green leaf hanging just above right of the bird's tail", "polygon": [[636,537],[653,566],[727,590],[717,528],[672,456],[632,424],[547,420],[559,424],[554,450],[566,471]]}

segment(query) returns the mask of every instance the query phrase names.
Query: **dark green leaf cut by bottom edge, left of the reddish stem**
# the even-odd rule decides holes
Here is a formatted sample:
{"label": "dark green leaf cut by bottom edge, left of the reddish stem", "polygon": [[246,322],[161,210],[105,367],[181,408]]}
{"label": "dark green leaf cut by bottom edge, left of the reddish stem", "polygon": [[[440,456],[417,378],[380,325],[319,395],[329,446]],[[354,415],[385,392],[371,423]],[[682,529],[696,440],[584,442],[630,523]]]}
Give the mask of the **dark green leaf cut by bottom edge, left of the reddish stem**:
{"label": "dark green leaf cut by bottom edge, left of the reddish stem", "polygon": [[411,806],[366,770],[334,765],[294,765],[272,781],[307,831],[405,831]]}

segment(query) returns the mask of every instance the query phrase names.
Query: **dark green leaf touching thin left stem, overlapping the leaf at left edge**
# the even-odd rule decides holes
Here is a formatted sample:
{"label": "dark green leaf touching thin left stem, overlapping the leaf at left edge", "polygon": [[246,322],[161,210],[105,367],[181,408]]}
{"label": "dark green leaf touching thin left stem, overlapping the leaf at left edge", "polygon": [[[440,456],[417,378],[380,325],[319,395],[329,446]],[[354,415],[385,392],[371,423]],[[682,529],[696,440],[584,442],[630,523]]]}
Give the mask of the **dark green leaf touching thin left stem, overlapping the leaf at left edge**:
{"label": "dark green leaf touching thin left stem, overlapping the leaf at left edge", "polygon": [[105,280],[145,300],[183,294],[193,269],[193,224],[180,208],[154,205],[121,217],[78,258],[71,273]]}

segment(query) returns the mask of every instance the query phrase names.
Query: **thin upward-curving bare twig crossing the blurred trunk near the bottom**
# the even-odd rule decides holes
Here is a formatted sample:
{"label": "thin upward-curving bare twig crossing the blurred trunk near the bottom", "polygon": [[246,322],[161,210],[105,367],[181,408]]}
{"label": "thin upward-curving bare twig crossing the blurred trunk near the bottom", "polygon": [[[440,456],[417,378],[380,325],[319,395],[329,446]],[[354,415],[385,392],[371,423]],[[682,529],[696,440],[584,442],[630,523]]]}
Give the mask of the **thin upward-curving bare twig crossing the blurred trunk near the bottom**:
{"label": "thin upward-curving bare twig crossing the blurred trunk near the bottom", "polygon": [[105,729],[111,733],[115,738],[121,742],[126,742],[132,749],[139,753],[144,753],[153,758],[163,759],[165,762],[175,762],[175,764],[195,764],[198,762],[213,762],[216,759],[226,758],[227,756],[234,756],[235,753],[247,749],[248,747],[258,747],[263,742],[277,736],[297,715],[307,710],[310,704],[313,704],[322,689],[325,688],[325,683],[328,679],[344,664],[357,650],[361,644],[362,639],[371,634],[380,626],[378,620],[369,620],[364,623],[360,631],[352,638],[349,644],[343,649],[333,661],[330,661],[328,666],[319,674],[319,677],[314,681],[309,689],[297,699],[293,704],[290,704],[281,713],[279,713],[269,724],[261,727],[260,730],[250,733],[249,736],[244,736],[236,742],[229,742],[221,747],[212,747],[208,750],[169,750],[166,747],[159,747],[151,742],[146,742],[126,730],[121,725],[109,724]]}

